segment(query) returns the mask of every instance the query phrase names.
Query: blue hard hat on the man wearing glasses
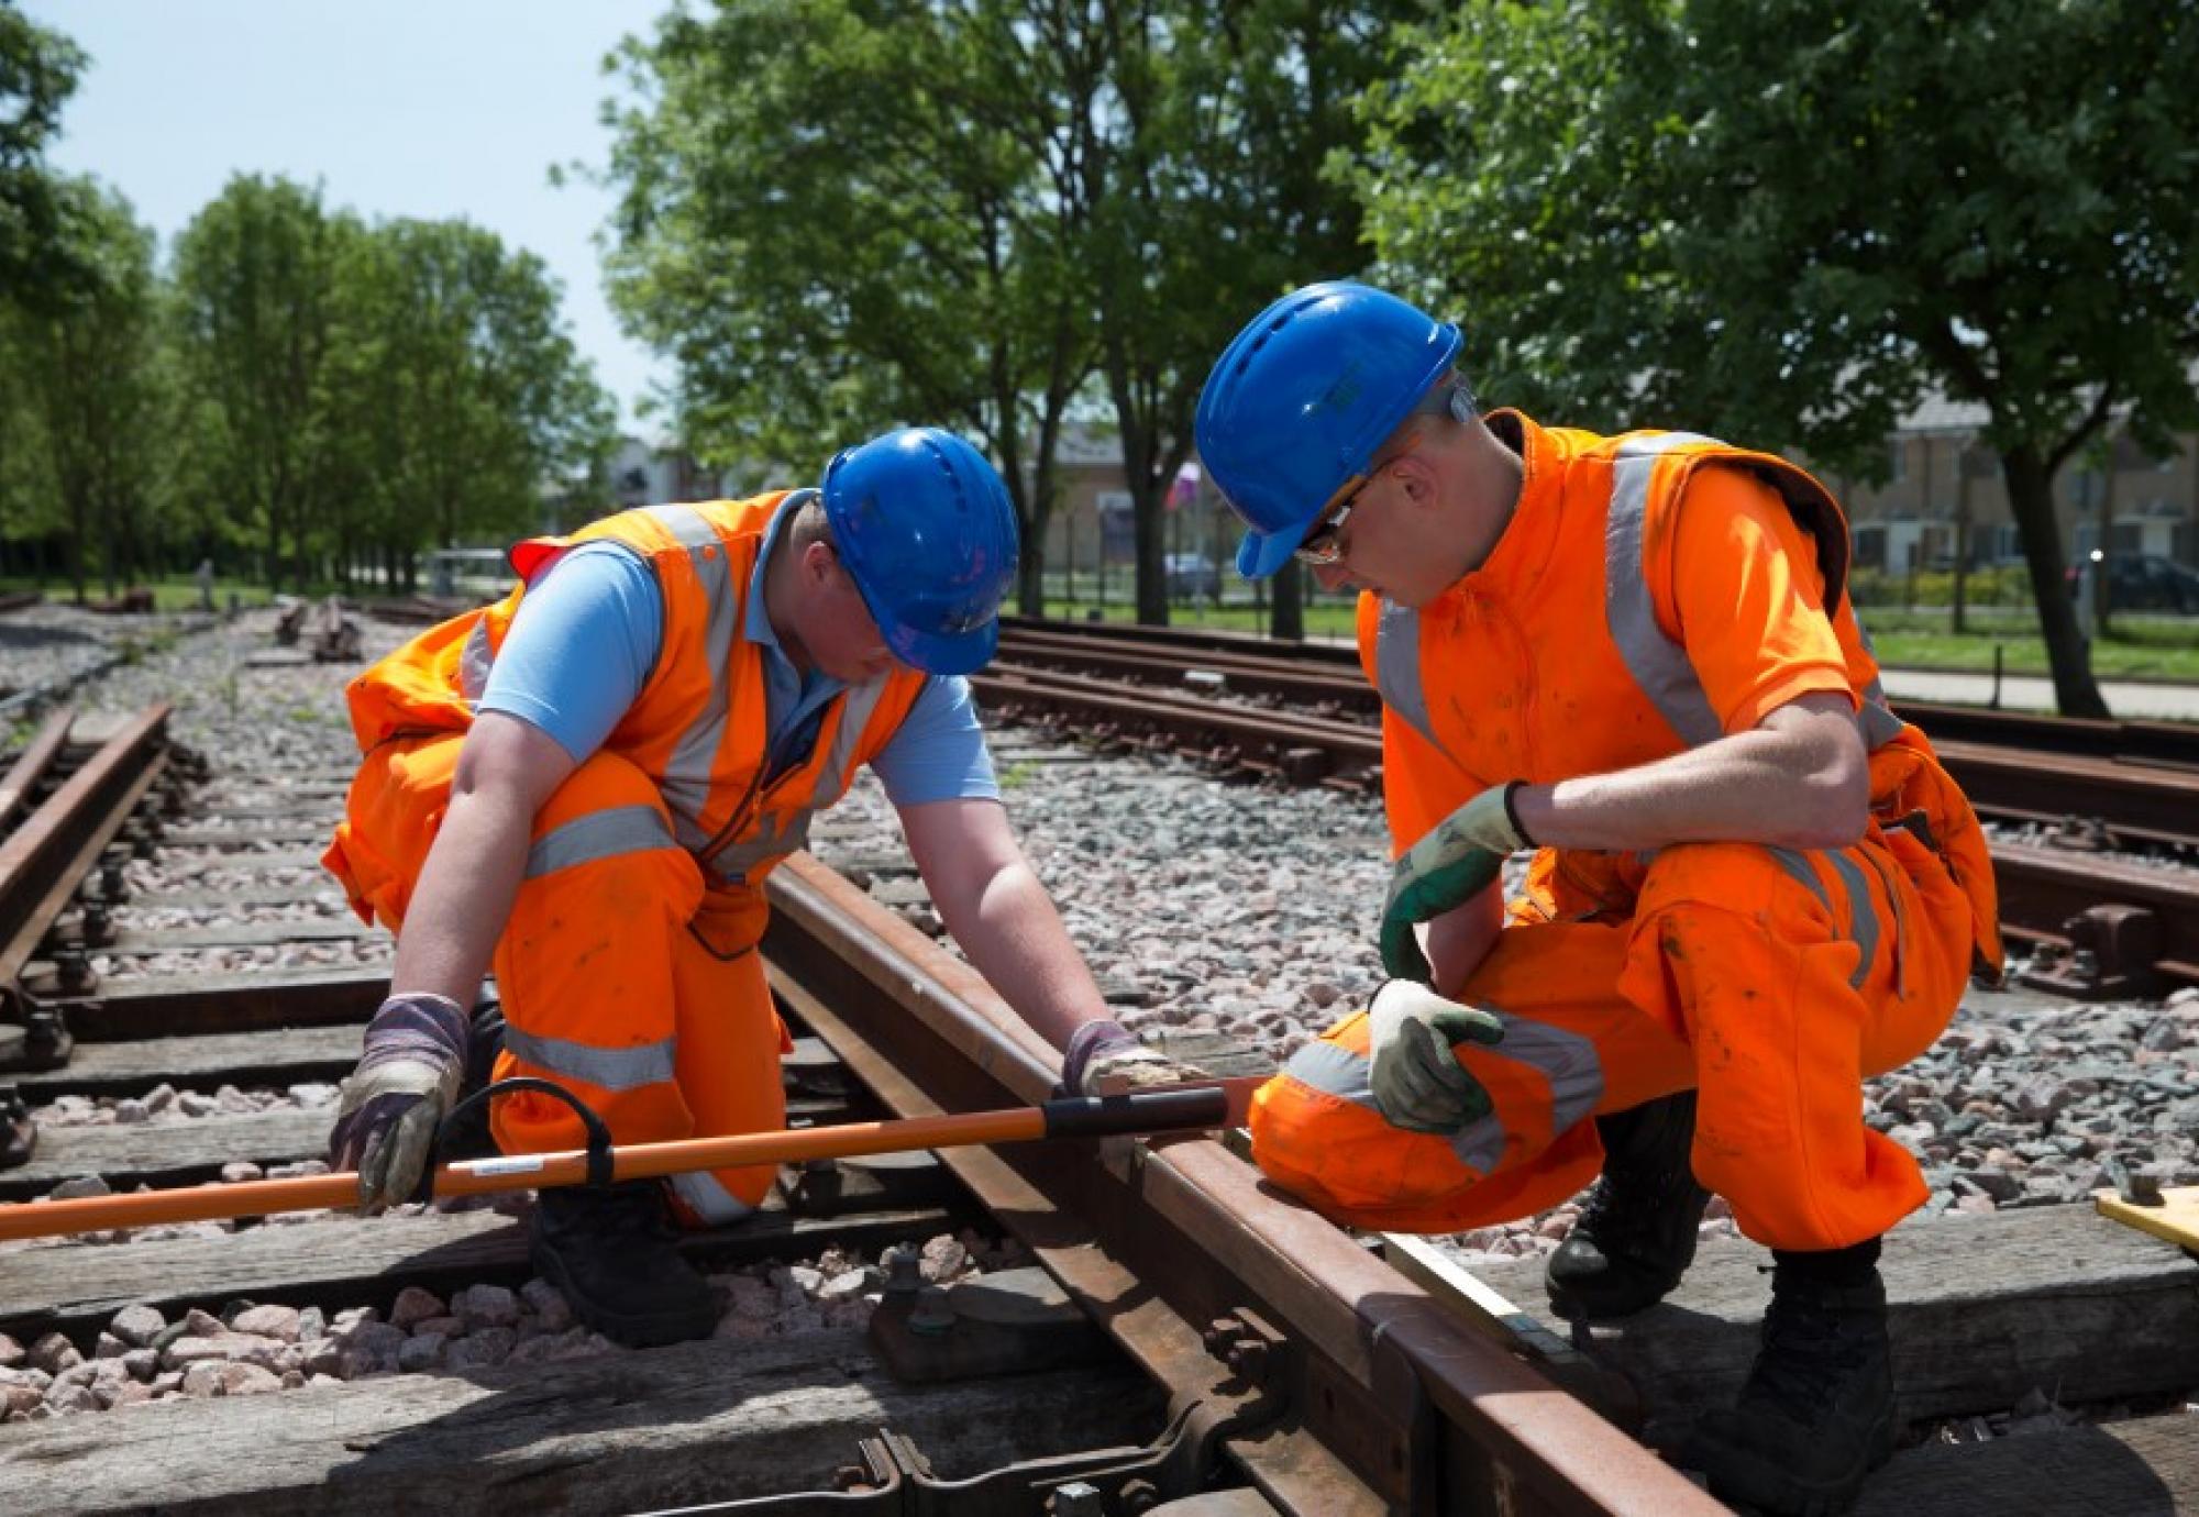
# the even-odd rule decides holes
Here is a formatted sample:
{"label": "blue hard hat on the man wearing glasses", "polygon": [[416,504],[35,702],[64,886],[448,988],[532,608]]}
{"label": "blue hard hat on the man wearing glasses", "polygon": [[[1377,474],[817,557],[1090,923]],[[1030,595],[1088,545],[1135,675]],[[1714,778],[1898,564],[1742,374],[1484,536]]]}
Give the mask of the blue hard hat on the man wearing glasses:
{"label": "blue hard hat on the man wearing glasses", "polygon": [[1198,459],[1245,521],[1238,574],[1280,569],[1337,490],[1458,361],[1449,321],[1348,279],[1293,290],[1223,350],[1198,391]]}

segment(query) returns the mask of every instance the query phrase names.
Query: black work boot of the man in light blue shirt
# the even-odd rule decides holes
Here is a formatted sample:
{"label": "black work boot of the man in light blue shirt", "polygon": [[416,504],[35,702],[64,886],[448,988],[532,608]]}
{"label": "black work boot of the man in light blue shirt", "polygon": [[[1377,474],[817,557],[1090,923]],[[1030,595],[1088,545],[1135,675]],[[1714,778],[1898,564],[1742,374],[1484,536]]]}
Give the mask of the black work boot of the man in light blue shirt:
{"label": "black work boot of the man in light blue shirt", "polygon": [[530,1255],[589,1328],[627,1348],[699,1339],[717,1326],[717,1295],[679,1258],[658,1181],[537,1194]]}

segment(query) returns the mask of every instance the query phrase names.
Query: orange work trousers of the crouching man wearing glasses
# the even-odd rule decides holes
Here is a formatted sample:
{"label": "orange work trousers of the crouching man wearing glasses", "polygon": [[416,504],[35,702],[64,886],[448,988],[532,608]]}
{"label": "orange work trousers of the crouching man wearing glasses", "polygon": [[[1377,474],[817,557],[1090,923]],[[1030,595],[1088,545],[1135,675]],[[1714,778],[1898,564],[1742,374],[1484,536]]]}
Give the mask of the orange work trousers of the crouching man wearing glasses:
{"label": "orange work trousers of the crouching man wearing glasses", "polygon": [[[1583,871],[1594,884],[1568,886]],[[1739,1229],[1841,1249],[1924,1203],[1915,1159],[1865,1126],[1860,1084],[1931,1047],[1970,952],[1968,899],[1898,829],[1838,851],[1544,851],[1460,992],[1504,1020],[1504,1042],[1456,1053],[1491,1112],[1456,1134],[1383,1121],[1361,1011],[1253,1097],[1253,1159],[1335,1220],[1447,1233],[1566,1200],[1603,1167],[1590,1117],[1693,1086],[1695,1176]]]}

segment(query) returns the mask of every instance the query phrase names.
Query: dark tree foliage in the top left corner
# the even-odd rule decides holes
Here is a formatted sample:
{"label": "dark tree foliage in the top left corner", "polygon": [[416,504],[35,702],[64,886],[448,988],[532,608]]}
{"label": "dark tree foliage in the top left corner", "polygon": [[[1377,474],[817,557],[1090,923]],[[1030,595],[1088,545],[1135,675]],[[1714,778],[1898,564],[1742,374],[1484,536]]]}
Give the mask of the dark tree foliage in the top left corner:
{"label": "dark tree foliage in the top left corner", "polygon": [[0,295],[22,299],[68,273],[62,189],[44,156],[81,70],[73,42],[0,0]]}

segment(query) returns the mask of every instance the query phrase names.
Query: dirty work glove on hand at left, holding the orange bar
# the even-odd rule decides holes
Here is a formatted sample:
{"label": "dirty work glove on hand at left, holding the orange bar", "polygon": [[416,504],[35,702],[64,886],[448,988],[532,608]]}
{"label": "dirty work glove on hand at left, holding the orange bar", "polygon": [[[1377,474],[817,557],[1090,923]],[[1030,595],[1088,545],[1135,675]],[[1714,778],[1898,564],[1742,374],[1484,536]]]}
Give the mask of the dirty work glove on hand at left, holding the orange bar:
{"label": "dirty work glove on hand at left, holding the orange bar", "polygon": [[420,1187],[435,1130],[466,1075],[466,1011],[449,996],[391,996],[343,1082],[330,1163],[358,1170],[358,1209],[380,1211]]}

